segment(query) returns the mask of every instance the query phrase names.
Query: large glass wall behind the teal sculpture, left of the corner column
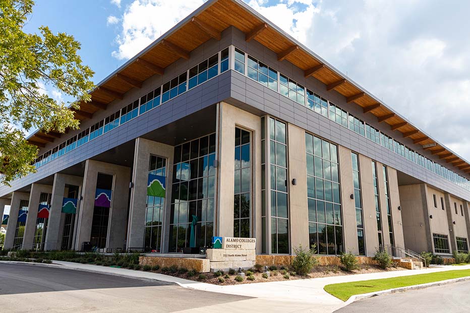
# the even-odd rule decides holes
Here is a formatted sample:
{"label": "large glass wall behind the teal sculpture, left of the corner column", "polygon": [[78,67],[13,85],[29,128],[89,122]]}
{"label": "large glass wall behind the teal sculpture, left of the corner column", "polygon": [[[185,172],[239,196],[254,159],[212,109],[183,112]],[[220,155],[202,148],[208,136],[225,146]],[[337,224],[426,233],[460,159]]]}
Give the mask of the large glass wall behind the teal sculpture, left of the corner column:
{"label": "large glass wall behind the teal sculpture, left of the corner column", "polygon": [[[215,134],[174,148],[169,252],[211,244],[214,228]],[[191,231],[195,242],[191,241]]]}

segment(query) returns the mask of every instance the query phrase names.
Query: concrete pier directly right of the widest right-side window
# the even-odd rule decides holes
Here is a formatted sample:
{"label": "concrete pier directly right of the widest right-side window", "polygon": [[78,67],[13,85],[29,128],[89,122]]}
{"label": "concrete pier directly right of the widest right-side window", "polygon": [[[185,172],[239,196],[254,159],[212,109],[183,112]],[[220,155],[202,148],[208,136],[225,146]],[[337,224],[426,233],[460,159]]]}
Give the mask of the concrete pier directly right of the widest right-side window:
{"label": "concrete pier directly right of the widest right-side window", "polygon": [[341,207],[343,211],[343,240],[344,252],[359,254],[358,225],[356,223],[356,208],[353,185],[353,161],[351,151],[342,146],[339,149],[339,181],[341,182]]}

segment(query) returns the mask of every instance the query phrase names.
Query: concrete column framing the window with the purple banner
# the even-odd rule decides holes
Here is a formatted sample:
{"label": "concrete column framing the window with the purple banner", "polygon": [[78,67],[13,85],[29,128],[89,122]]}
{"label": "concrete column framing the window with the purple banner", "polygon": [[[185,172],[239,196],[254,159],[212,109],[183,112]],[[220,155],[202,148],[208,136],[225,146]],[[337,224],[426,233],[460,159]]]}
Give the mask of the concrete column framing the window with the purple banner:
{"label": "concrete column framing the window with the purple banner", "polygon": [[106,248],[124,247],[131,176],[130,168],[88,159],[85,165],[85,176],[83,177],[83,200],[79,212],[77,240],[75,243],[75,249],[77,250],[81,249],[84,241],[90,241],[98,173],[113,176]]}

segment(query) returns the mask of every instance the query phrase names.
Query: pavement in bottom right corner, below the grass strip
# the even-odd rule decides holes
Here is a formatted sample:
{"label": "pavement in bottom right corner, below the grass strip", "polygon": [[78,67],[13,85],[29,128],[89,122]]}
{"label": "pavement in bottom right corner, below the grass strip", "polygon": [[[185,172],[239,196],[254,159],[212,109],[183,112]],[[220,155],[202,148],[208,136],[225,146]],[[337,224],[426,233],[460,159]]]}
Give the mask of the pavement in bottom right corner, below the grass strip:
{"label": "pavement in bottom right corner, below the grass strip", "polygon": [[470,281],[391,293],[353,302],[336,312],[470,312]]}

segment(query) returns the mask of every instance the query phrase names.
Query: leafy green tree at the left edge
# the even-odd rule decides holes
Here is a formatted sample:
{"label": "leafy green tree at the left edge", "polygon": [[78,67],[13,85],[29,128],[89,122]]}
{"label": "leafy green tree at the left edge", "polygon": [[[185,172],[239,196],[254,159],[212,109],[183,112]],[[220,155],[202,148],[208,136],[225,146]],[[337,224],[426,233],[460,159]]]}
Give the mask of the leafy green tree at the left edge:
{"label": "leafy green tree at the left edge", "polygon": [[[93,71],[82,65],[80,43],[66,33],[54,35],[41,26],[38,34],[23,28],[31,15],[32,0],[0,0],[0,183],[32,171],[38,149],[25,132],[64,133],[77,129],[72,109],[90,101]],[[74,103],[56,101],[45,88],[74,98]],[[42,87],[42,88],[41,88]]]}

